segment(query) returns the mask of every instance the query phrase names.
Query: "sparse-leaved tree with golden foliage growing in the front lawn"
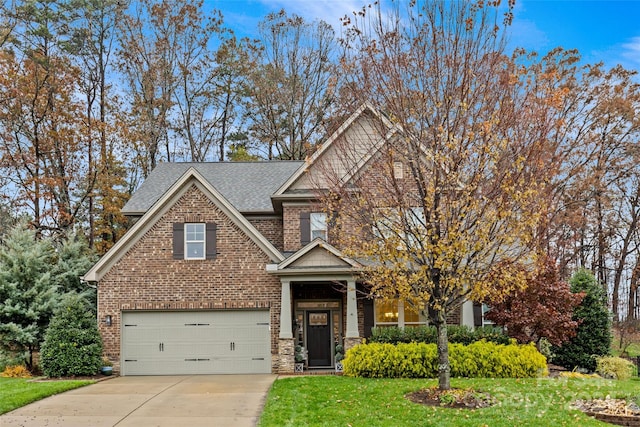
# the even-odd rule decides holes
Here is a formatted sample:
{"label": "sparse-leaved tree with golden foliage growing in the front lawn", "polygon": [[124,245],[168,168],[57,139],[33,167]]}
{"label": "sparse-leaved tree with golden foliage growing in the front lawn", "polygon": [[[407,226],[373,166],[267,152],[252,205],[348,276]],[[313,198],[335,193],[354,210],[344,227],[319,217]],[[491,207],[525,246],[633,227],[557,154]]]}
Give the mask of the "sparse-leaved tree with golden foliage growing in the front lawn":
{"label": "sparse-leaved tree with golden foliage growing in the front lawn", "polygon": [[[314,178],[372,294],[401,298],[436,326],[442,389],[447,317],[467,299],[521,288],[533,270],[554,173],[546,159],[557,156],[548,135],[564,92],[540,88],[553,77],[504,54],[500,17],[482,2],[435,1],[347,19],[350,100],[379,113],[358,138],[336,141],[341,160]],[[369,158],[360,141],[372,129],[382,137]]]}

